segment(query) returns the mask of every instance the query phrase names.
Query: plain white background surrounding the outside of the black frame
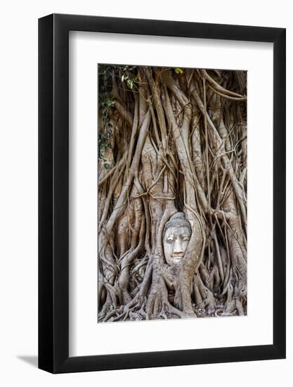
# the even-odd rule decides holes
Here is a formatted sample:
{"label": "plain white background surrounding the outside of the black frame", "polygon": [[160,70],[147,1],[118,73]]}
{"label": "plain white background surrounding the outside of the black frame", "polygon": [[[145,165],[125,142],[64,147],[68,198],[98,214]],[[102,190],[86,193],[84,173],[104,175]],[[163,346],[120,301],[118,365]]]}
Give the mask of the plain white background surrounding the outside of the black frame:
{"label": "plain white background surrounding the outside of the black frame", "polygon": [[[144,4],[144,5],[143,5]],[[79,13],[287,27],[287,196],[292,185],[292,11],[289,1],[10,1],[1,8],[1,337],[4,386],[264,386],[292,383],[292,200],[287,201],[287,360],[52,376],[37,355],[37,18]],[[264,91],[265,92],[265,91]],[[266,243],[266,241],[264,241]]]}

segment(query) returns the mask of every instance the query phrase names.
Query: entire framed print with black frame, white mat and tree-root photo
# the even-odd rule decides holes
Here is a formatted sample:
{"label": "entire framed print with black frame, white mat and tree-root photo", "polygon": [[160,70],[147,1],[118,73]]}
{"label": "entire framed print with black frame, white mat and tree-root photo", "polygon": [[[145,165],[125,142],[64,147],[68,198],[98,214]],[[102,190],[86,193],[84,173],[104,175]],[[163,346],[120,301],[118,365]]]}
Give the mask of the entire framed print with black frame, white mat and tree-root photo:
{"label": "entire framed print with black frame, white mat and tree-root photo", "polygon": [[285,357],[285,29],[39,19],[39,368]]}

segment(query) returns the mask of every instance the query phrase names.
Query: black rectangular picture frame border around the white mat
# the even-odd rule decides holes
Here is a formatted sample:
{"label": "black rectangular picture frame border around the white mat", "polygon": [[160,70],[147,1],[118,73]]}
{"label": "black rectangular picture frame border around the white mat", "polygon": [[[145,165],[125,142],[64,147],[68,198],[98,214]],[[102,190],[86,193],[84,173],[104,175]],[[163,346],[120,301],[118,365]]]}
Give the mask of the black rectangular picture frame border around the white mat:
{"label": "black rectangular picture frame border around the white mat", "polygon": [[[273,344],[69,357],[69,31],[273,43]],[[52,14],[39,19],[39,368],[52,373],[285,358],[284,28]]]}

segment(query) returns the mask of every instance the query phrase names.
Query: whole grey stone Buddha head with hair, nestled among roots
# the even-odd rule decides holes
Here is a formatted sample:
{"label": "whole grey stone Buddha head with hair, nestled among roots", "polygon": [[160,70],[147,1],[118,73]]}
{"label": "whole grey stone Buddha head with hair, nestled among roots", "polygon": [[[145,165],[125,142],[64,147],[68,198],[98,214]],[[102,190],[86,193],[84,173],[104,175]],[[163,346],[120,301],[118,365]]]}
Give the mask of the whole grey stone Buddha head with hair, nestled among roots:
{"label": "whole grey stone Buddha head with hair, nestled among roots", "polygon": [[165,224],[163,232],[164,255],[168,265],[181,262],[191,236],[191,227],[183,212],[176,212]]}

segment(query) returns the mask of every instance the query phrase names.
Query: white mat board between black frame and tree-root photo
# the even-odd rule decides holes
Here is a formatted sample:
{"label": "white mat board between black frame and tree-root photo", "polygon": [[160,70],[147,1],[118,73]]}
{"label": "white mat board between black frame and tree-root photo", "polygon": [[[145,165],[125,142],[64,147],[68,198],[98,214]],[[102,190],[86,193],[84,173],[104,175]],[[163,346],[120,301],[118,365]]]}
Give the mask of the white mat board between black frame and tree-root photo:
{"label": "white mat board between black frame and tree-root photo", "polygon": [[[272,48],[269,43],[70,33],[71,356],[273,343]],[[248,71],[247,316],[97,324],[97,62]]]}

